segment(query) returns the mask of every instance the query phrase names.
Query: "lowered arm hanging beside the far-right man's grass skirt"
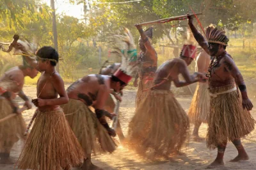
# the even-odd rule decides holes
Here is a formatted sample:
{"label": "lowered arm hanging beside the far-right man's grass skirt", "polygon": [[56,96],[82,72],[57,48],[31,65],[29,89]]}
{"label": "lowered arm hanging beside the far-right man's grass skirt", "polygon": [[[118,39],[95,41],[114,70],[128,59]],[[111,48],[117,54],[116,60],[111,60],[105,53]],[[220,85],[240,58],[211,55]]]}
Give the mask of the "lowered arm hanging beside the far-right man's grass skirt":
{"label": "lowered arm hanging beside the far-right man's grass skirt", "polygon": [[231,59],[230,57],[226,56],[224,58],[224,64],[225,64],[225,69],[230,72],[232,77],[234,77],[236,84],[241,91],[242,99],[243,99],[243,107],[246,108],[248,111],[252,110],[253,104],[248,98],[247,91],[246,91],[246,86],[244,83],[243,75],[239,71],[239,69],[236,66],[236,63]]}

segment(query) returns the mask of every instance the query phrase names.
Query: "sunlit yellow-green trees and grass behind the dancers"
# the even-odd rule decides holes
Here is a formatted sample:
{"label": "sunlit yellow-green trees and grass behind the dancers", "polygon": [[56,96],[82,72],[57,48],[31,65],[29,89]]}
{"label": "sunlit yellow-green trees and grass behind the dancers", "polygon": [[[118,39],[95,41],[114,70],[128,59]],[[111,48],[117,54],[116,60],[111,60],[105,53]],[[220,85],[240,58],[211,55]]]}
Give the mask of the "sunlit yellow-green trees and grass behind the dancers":
{"label": "sunlit yellow-green trees and grass behind the dancers", "polygon": [[[60,0],[56,0],[60,1]],[[129,1],[129,0],[127,0]],[[198,16],[202,26],[222,27],[230,38],[228,52],[233,56],[246,81],[255,79],[255,29],[256,3],[253,0],[143,0],[122,3],[124,0],[70,0],[83,4],[84,18],[77,19],[57,14],[58,52],[60,73],[65,82],[72,82],[88,73],[99,72],[108,59],[108,35],[120,27],[131,29],[135,40],[139,34],[134,24],[177,15],[202,12]],[[119,3],[119,4],[118,4]],[[39,47],[53,43],[51,6],[39,0],[0,0],[0,42],[11,42],[17,33]],[[196,21],[195,21],[196,23]],[[181,46],[186,39],[187,21],[179,20],[154,25],[154,47],[159,55],[159,65],[174,58],[172,47]],[[112,62],[113,59],[110,59]],[[0,52],[0,73],[20,65],[21,58]],[[193,71],[193,66],[190,69]],[[26,79],[35,84],[36,79]]]}

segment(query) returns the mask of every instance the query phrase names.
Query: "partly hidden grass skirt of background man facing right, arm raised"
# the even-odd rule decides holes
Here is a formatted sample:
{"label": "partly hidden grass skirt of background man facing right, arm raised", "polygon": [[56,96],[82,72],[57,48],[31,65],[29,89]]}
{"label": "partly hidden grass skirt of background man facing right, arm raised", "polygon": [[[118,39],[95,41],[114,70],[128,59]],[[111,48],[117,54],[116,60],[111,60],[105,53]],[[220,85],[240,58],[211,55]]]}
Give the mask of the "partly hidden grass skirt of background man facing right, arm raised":
{"label": "partly hidden grass skirt of background man facing right, arm raised", "polygon": [[141,100],[145,98],[150,91],[150,90],[147,90],[147,91],[143,91],[143,90],[150,89],[152,88],[153,85],[154,85],[154,81],[152,80],[147,81],[147,83],[145,84],[145,80],[140,79],[138,91],[136,94],[136,105],[135,105],[136,108],[138,107],[138,105],[140,105]]}

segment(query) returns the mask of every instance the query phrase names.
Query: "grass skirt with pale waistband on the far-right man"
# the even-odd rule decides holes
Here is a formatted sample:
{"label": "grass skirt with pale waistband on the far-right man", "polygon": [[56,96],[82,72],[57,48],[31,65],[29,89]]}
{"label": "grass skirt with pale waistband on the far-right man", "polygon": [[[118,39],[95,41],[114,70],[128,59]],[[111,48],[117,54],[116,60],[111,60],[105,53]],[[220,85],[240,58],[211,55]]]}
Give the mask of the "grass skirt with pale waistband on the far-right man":
{"label": "grass skirt with pale waistband on the far-right man", "polygon": [[[234,88],[234,84],[211,88],[210,93],[220,93]],[[216,148],[217,144],[233,141],[250,134],[255,120],[246,109],[243,109],[239,91],[232,91],[211,97],[208,120],[207,147]]]}

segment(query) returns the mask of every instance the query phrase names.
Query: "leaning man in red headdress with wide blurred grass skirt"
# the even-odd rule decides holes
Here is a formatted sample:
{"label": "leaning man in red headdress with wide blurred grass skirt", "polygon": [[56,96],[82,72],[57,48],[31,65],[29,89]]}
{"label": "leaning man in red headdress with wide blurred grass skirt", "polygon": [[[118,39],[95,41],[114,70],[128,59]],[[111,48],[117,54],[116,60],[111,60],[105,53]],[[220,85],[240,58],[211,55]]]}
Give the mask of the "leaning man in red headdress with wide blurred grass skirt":
{"label": "leaning man in red headdress with wide blurred grass skirt", "polygon": [[[188,65],[195,58],[196,47],[184,45],[179,58],[159,66],[154,85],[141,99],[129,123],[127,144],[145,158],[168,158],[177,154],[186,141],[189,118],[170,91],[172,82],[177,88],[205,81],[202,73],[189,75]],[[181,74],[185,81],[179,80]]]}

